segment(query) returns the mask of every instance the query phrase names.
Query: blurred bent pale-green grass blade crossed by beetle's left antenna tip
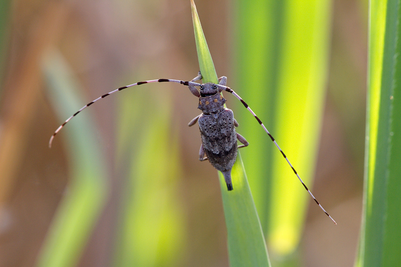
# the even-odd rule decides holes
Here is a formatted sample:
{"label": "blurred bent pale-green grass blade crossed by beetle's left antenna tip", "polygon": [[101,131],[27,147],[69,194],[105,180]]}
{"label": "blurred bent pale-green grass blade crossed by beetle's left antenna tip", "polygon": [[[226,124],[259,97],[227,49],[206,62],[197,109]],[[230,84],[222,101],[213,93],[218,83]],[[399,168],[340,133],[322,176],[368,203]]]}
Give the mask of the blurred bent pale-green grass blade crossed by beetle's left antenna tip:
{"label": "blurred bent pale-green grass blade crossed by beetle's left antenna tip", "polygon": [[[60,120],[68,118],[84,105],[78,97],[78,86],[59,54],[51,53],[46,57],[44,73],[51,102],[59,112]],[[75,266],[105,202],[106,164],[98,144],[93,140],[95,130],[88,115],[80,114],[63,129],[63,133],[57,135],[57,138],[68,141],[66,148],[71,159],[72,175],[42,247],[38,266]]]}

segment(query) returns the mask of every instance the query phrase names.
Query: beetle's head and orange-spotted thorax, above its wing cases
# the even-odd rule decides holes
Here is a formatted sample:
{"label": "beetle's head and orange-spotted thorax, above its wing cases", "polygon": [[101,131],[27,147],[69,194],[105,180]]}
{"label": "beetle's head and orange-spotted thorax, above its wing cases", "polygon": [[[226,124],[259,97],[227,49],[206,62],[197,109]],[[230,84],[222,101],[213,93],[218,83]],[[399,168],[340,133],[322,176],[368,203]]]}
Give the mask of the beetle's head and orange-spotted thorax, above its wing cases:
{"label": "beetle's head and orange-spotted thorax, above its wing cases", "polygon": [[226,99],[220,94],[216,84],[206,83],[200,86],[200,98],[198,109],[203,113],[217,113],[224,108]]}

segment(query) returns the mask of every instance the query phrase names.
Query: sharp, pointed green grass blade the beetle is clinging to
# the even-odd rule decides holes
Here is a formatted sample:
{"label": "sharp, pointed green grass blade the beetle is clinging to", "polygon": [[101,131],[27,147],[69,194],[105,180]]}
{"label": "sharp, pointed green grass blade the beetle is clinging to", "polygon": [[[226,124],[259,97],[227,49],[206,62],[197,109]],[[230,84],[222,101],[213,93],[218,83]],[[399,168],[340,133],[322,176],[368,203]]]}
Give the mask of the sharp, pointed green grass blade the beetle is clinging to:
{"label": "sharp, pointed green grass blade the beetle is clinging to", "polygon": [[[216,70],[192,0],[191,6],[203,82],[217,83]],[[240,154],[232,170],[234,190],[227,191],[226,182],[220,172],[219,177],[228,232],[230,265],[270,266],[262,227]]]}

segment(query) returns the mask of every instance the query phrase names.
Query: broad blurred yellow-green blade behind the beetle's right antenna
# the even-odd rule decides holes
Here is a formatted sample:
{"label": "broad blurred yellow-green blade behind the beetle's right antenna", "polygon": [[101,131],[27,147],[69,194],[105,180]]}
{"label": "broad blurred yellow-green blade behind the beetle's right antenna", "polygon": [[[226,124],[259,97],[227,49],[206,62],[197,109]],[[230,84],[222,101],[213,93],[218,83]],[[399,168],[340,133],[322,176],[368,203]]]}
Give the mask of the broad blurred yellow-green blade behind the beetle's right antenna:
{"label": "broad blurred yellow-green blade behind the beetle's right antenna", "polygon": [[[238,0],[236,6],[238,90],[309,188],[325,99],[330,5],[329,0]],[[256,130],[254,118],[245,113],[240,121],[241,134],[250,141],[243,156],[251,166],[262,227],[269,248],[283,260],[299,244],[310,196],[270,138]]]}

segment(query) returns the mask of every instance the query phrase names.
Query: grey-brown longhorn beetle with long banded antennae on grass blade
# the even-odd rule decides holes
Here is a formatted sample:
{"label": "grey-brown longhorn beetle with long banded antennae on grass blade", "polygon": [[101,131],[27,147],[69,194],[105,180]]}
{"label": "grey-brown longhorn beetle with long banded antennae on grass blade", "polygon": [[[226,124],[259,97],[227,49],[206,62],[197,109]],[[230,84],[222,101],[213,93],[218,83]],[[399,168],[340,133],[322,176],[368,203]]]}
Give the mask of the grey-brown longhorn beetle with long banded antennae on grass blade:
{"label": "grey-brown longhorn beetle with long banded antennae on grass blade", "polygon": [[[249,143],[243,136],[238,134],[235,130],[235,127],[238,127],[238,123],[236,119],[234,119],[234,113],[232,110],[224,107],[224,103],[226,99],[223,97],[221,92],[227,91],[233,94],[241,103],[251,112],[251,114],[255,117],[255,119],[259,122],[259,124],[263,127],[265,132],[269,135],[270,139],[272,139],[273,143],[276,145],[280,153],[283,155],[284,159],[290,165],[291,169],[294,171],[295,175],[301,181],[302,185],[311,195],[313,200],[315,200],[316,204],[326,213],[327,216],[337,224],[334,219],[326,212],[326,210],[320,205],[320,203],[313,196],[312,192],[308,189],[305,183],[302,181],[301,177],[299,177],[297,171],[292,166],[287,156],[284,154],[283,150],[279,147],[277,142],[274,140],[273,136],[266,129],[265,125],[263,125],[262,121],[256,116],[256,114],[252,111],[252,109],[248,106],[247,103],[239,96],[236,92],[234,92],[230,87],[226,86],[227,77],[223,76],[219,78],[219,84],[214,83],[205,83],[199,84],[196,81],[201,80],[202,75],[200,72],[198,75],[193,78],[191,81],[181,81],[181,80],[171,80],[171,79],[158,79],[158,80],[149,80],[144,82],[137,82],[131,85],[120,87],[114,91],[111,91],[107,94],[104,94],[92,102],[86,104],[80,110],[78,110],[74,115],[69,117],[62,125],[57,128],[52,137],[49,140],[49,147],[52,146],[52,142],[54,137],[60,130],[69,122],[73,117],[77,116],[82,110],[86,109],[96,101],[105,98],[115,92],[124,90],[129,87],[133,87],[136,85],[148,84],[148,83],[162,83],[162,82],[170,82],[170,83],[178,83],[185,85],[189,88],[189,91],[195,97],[199,98],[198,109],[202,110],[202,114],[193,118],[188,126],[194,125],[198,122],[199,130],[200,130],[200,139],[202,140],[202,145],[200,145],[199,149],[199,160],[209,160],[210,163],[219,171],[221,171],[224,175],[224,178],[227,183],[227,188],[229,191],[233,190],[233,184],[231,182],[231,169],[237,159],[237,150],[238,148],[248,146]],[[199,87],[199,91],[195,88]],[[237,139],[242,143],[242,145],[237,147]],[[206,154],[206,157],[204,157]]]}

